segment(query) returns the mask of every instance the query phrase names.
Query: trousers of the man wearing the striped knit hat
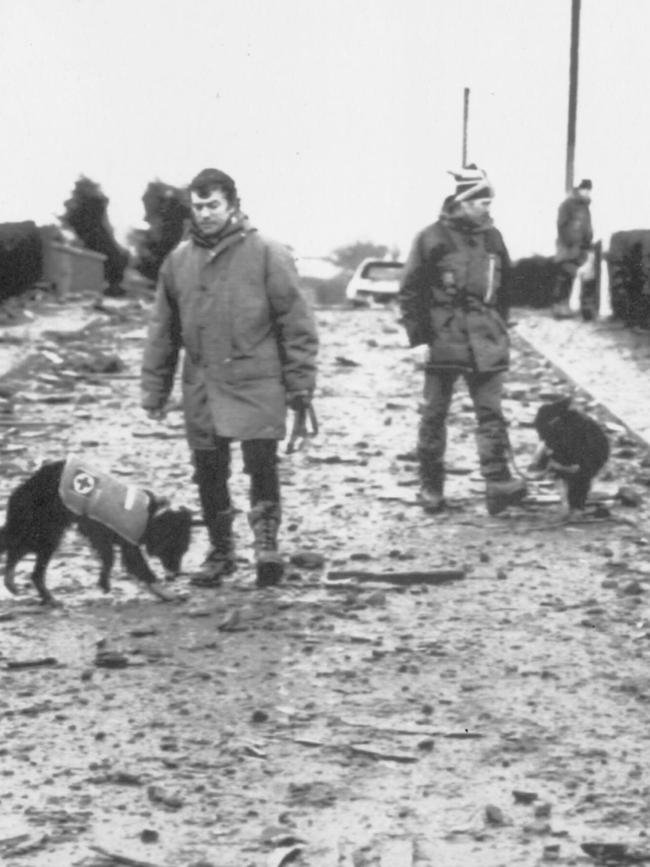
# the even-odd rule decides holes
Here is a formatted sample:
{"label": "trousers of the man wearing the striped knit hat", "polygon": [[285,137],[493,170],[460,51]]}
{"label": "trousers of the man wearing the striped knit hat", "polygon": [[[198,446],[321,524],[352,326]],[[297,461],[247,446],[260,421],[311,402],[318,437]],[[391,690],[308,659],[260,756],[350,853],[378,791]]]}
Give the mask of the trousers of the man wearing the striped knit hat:
{"label": "trousers of the man wearing the striped knit hat", "polygon": [[[447,413],[454,384],[461,375],[455,370],[427,370],[418,436],[418,457],[423,480],[442,468],[447,445]],[[502,373],[465,373],[476,414],[476,444],[481,473],[491,480],[510,478],[508,432],[501,411]]]}

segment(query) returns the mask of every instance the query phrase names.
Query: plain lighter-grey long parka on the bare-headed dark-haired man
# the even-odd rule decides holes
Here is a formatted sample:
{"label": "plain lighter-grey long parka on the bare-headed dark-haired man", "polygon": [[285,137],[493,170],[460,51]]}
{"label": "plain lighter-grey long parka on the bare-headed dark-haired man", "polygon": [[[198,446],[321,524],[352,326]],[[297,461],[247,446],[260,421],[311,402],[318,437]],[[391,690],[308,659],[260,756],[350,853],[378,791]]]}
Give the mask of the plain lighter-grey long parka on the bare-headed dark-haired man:
{"label": "plain lighter-grey long parka on the bare-headed dark-haired man", "polygon": [[192,449],[215,435],[282,439],[286,405],[313,392],[317,337],[289,251],[243,218],[214,248],[181,242],[160,269],[142,365],[142,406],[160,409],[179,352]]}

